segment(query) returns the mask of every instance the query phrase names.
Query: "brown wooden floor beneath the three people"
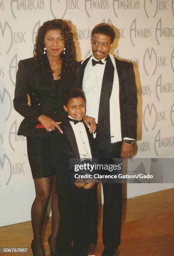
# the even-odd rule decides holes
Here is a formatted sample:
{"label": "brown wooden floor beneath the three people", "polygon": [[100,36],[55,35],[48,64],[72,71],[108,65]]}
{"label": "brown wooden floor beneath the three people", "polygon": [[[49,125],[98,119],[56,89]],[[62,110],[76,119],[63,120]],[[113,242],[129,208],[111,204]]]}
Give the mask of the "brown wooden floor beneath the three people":
{"label": "brown wooden floor beneath the three people", "polygon": [[[50,235],[51,218],[45,219],[44,247],[50,255],[47,238]],[[102,206],[99,207],[99,239],[90,255],[101,256]],[[31,256],[31,222],[0,228],[0,248],[29,248],[27,253],[6,255]],[[5,255],[0,253],[0,255]],[[167,189],[123,201],[121,256],[174,256],[174,189]]]}

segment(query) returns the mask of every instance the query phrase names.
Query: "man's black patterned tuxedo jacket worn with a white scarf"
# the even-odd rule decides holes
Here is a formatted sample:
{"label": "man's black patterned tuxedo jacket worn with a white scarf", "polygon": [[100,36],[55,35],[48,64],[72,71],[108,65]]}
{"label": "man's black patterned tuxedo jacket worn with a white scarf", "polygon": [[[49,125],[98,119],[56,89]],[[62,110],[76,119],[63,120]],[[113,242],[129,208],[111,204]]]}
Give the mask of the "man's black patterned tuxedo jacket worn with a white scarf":
{"label": "man's black patterned tuxedo jacket worn with a white scarf", "polygon": [[[90,58],[91,56],[89,56]],[[82,88],[83,76],[85,67],[89,61],[89,58],[85,59],[82,63],[80,87]],[[133,64],[129,61],[115,59],[118,78],[119,78],[119,107],[121,117],[121,131],[122,139],[124,137],[137,138],[137,86],[135,82]],[[102,80],[102,87],[104,86],[104,94],[107,94],[107,88],[113,85],[114,69],[112,61],[108,55],[106,66],[104,69],[104,75]],[[100,97],[101,98],[101,97]],[[104,95],[102,95],[104,98]],[[105,97],[106,98],[106,97]],[[115,102],[117,104],[117,102]],[[103,102],[100,102],[99,106],[103,106]],[[99,108],[99,113],[103,109]],[[100,114],[99,114],[100,116]],[[101,120],[100,120],[101,121]],[[98,120],[99,122],[99,120]],[[102,120],[104,122],[104,120]]]}

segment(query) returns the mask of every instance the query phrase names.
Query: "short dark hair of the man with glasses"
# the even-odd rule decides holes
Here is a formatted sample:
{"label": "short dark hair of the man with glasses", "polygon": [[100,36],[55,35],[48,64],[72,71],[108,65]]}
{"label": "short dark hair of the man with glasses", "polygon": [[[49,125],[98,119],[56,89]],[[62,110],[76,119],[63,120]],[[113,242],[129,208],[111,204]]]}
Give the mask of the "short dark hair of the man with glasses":
{"label": "short dark hair of the man with glasses", "polygon": [[106,36],[110,36],[111,42],[113,42],[115,39],[115,31],[112,26],[108,25],[107,23],[99,23],[98,25],[94,26],[91,32],[91,37],[93,37],[94,34],[104,34]]}

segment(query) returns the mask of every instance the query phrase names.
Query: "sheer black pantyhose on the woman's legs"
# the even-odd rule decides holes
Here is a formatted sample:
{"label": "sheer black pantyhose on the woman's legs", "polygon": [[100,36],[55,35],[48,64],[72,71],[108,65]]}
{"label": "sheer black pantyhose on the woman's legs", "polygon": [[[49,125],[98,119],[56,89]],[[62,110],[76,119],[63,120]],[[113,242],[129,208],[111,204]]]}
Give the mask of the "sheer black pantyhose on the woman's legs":
{"label": "sheer black pantyhose on the woman's legs", "polygon": [[52,233],[51,250],[56,251],[60,212],[57,195],[55,194],[55,177],[34,179],[36,197],[32,204],[31,218],[33,230],[32,247],[37,256],[45,256],[42,244],[42,227],[52,193]]}

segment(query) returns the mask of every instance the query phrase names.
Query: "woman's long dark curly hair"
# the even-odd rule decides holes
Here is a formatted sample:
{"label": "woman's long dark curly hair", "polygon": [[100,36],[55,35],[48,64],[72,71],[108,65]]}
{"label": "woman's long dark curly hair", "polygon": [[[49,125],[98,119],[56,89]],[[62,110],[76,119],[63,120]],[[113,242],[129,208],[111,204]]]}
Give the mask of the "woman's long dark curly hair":
{"label": "woman's long dark curly hair", "polygon": [[[66,76],[68,74],[75,73],[75,64],[76,64],[76,49],[75,49],[75,43],[73,41],[73,34],[72,34],[72,28],[69,26],[69,24],[62,19],[54,19],[54,20],[48,20],[43,23],[42,26],[37,30],[37,36],[35,39],[35,46],[34,46],[34,57],[36,57],[39,66],[41,69],[45,69],[45,55],[44,52],[44,37],[47,31],[52,29],[60,29],[62,36],[65,40],[65,48],[66,48],[66,54],[64,55],[63,52],[61,53],[62,57],[62,76]],[[53,70],[50,70],[52,73]]]}

